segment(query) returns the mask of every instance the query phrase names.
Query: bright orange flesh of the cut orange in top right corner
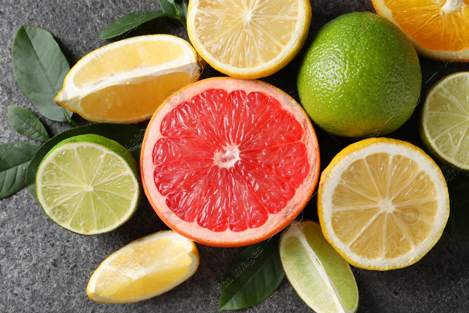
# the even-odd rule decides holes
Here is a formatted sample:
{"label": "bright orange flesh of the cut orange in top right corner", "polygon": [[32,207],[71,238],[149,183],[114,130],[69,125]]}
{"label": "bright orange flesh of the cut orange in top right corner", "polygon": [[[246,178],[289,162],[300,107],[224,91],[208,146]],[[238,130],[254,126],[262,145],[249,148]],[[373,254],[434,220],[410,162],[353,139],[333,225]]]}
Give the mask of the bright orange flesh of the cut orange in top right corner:
{"label": "bright orange flesh of the cut orange in top right corner", "polygon": [[461,51],[469,45],[469,0],[446,14],[445,0],[390,0],[391,10],[402,31],[427,49]]}

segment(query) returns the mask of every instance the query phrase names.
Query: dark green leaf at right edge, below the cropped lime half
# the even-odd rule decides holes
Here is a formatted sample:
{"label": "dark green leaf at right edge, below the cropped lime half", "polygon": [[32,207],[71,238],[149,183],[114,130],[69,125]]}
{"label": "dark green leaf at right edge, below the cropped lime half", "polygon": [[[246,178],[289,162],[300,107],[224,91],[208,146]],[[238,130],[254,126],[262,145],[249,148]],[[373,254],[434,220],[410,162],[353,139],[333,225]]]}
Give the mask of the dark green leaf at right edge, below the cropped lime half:
{"label": "dark green leaf at right edge, below the cropped lime half", "polygon": [[449,192],[449,218],[445,232],[469,237],[469,176],[457,168],[440,165]]}

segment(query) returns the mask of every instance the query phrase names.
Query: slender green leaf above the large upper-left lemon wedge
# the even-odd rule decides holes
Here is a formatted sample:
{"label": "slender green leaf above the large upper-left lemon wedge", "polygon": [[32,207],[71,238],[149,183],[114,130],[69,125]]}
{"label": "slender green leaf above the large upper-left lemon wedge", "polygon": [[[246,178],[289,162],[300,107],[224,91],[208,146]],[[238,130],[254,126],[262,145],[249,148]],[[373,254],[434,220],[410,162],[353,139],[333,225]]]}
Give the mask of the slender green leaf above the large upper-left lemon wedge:
{"label": "slender green leaf above the large upper-left lemon wedge", "polygon": [[137,28],[137,26],[157,17],[167,16],[163,12],[133,12],[119,17],[101,31],[101,39],[113,38]]}

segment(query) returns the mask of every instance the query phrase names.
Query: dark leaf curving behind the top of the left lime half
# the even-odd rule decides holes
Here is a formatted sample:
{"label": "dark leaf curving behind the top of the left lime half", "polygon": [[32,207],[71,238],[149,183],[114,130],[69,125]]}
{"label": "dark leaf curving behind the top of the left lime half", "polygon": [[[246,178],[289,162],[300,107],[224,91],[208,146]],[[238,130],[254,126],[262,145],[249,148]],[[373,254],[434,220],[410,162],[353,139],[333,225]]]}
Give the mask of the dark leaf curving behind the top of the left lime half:
{"label": "dark leaf curving behind the top of the left lime half", "polygon": [[144,129],[138,129],[125,124],[100,123],[65,130],[47,140],[34,154],[34,157],[28,166],[28,170],[26,172],[26,184],[28,185],[28,192],[32,198],[36,198],[35,187],[32,187],[32,185],[36,184],[36,172],[38,171],[39,164],[49,150],[64,139],[84,134],[97,134],[117,141],[132,153],[138,164],[138,160],[140,159],[140,147],[145,134]]}

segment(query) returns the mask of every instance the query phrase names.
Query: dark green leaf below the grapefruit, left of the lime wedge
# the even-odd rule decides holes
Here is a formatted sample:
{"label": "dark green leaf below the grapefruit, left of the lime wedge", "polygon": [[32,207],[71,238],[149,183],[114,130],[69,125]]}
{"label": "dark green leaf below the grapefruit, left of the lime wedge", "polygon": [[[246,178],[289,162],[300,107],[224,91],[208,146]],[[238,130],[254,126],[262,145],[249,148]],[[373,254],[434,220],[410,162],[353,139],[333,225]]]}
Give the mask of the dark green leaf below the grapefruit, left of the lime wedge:
{"label": "dark green leaf below the grapefruit, left of the lime wedge", "polygon": [[234,258],[225,273],[219,309],[257,305],[277,289],[284,276],[278,236],[250,245]]}

